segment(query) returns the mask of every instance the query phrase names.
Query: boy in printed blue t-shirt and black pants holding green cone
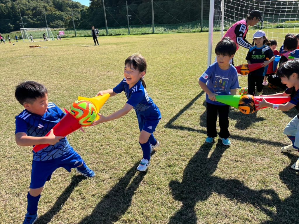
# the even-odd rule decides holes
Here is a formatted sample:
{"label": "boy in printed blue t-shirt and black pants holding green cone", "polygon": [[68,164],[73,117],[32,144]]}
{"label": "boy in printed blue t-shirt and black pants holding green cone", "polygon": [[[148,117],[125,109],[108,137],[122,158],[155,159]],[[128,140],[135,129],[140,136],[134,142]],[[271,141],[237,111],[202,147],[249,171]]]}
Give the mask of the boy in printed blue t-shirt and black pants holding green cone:
{"label": "boy in printed blue t-shirt and black pants holding green cone", "polygon": [[219,139],[223,145],[230,145],[228,131],[229,105],[216,101],[216,95],[235,95],[239,87],[236,68],[229,62],[237,46],[229,37],[222,39],[215,48],[217,62],[214,62],[199,78],[199,86],[206,93],[207,135],[205,142],[212,143],[217,136],[216,121],[219,114]]}

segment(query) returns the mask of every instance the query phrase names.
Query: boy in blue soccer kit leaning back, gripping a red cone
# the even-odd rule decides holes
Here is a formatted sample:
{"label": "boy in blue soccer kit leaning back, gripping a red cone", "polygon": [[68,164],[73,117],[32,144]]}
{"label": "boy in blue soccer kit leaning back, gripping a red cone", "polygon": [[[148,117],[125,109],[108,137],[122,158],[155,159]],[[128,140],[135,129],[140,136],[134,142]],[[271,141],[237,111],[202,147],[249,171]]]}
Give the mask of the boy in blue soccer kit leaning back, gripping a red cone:
{"label": "boy in blue soccer kit leaning back, gripping a red cone", "polygon": [[[75,168],[86,177],[94,177],[80,155],[69,145],[66,137],[55,136],[53,127],[65,115],[54,103],[48,102],[48,90],[33,81],[22,82],[16,87],[16,99],[25,110],[16,116],[16,143],[21,146],[50,144],[38,152],[33,151],[30,189],[25,223],[34,223],[37,205],[45,182],[59,167],[71,172]],[[50,131],[48,136],[45,136]]]}

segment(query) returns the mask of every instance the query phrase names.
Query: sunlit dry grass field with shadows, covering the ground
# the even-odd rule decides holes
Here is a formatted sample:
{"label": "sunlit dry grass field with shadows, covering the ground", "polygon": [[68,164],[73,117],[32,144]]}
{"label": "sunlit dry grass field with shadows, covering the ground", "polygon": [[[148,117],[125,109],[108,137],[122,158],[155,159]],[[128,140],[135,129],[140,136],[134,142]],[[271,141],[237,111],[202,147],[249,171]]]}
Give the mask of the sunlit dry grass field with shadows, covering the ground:
{"label": "sunlit dry grass field with shadows, covering the ground", "polygon": [[[136,167],[142,157],[135,112],[68,136],[96,177],[85,179],[59,168],[45,184],[39,202],[40,223],[295,223],[298,222],[298,173],[290,170],[297,152],[283,128],[296,111],[272,109],[244,115],[232,108],[231,146],[218,139],[204,143],[205,94],[198,78],[207,65],[208,33],[100,37],[1,45],[0,54],[0,223],[22,223],[30,184],[31,147],[14,139],[14,98],[23,80],[46,85],[49,102],[69,108],[77,96],[92,97],[123,78],[124,60],[139,52],[147,59],[147,92],[162,120],[160,142],[147,174]],[[239,77],[246,86],[246,77]],[[264,93],[274,93],[265,88]],[[126,102],[108,99],[108,115]]]}

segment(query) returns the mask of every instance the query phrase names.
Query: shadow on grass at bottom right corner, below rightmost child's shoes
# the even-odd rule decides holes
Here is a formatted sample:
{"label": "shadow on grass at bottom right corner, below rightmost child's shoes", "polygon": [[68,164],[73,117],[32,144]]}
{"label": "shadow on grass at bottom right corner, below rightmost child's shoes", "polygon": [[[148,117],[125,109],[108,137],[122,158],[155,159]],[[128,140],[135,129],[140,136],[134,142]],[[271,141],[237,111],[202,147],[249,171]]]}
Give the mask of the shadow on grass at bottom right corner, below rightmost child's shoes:
{"label": "shadow on grass at bottom right corner, below rightmost child's shoes", "polygon": [[271,217],[271,220],[263,222],[263,224],[293,224],[298,223],[299,220],[299,172],[293,170],[291,165],[293,165],[297,159],[298,155],[286,154],[291,160],[290,164],[279,173],[280,179],[286,185],[286,187],[291,191],[291,195],[284,199],[283,201],[275,204],[276,214]]}

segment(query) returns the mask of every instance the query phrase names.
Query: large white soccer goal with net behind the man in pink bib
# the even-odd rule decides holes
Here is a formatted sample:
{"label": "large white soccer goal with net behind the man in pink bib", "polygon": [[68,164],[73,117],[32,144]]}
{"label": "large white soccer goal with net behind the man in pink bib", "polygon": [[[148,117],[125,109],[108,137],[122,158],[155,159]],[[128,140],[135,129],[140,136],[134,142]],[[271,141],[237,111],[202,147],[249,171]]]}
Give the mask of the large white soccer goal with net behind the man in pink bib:
{"label": "large white soccer goal with net behind the man in pink bib", "polygon": [[[267,39],[277,41],[277,50],[283,45],[287,33],[299,33],[299,1],[298,0],[210,0],[210,24],[208,42],[208,66],[216,57],[214,50],[225,32],[234,23],[246,19],[252,10],[260,10],[264,22],[249,27],[246,39],[252,42],[253,34],[262,29]],[[248,50],[240,47],[234,57],[234,64],[247,63]]]}

